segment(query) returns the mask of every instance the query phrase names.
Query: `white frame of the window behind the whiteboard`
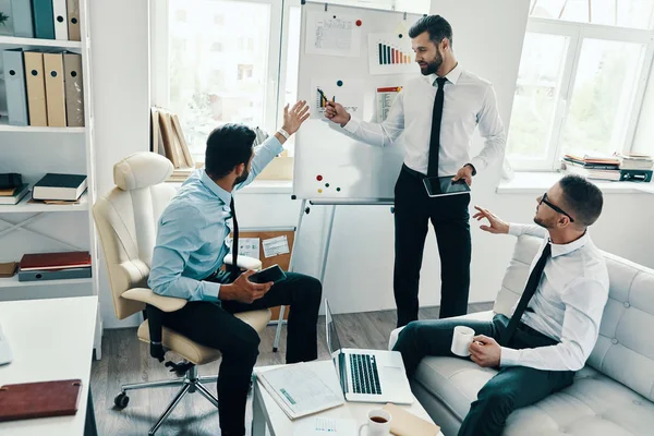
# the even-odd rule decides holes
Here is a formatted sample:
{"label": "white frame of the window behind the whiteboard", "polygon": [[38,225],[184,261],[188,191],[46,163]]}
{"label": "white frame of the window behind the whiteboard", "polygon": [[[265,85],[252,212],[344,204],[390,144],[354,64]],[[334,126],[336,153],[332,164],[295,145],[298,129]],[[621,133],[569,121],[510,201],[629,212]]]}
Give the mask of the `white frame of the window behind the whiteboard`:
{"label": "white frame of the window behind the whiteboard", "polygon": [[[281,77],[280,71],[286,69],[282,60],[282,14],[284,12],[284,0],[234,0],[242,3],[263,3],[270,5],[270,28],[269,47],[267,55],[268,71],[266,73],[266,95],[264,96],[264,125],[261,128],[268,133],[272,133],[278,128],[280,111],[278,98],[280,87],[284,82],[278,80]],[[300,0],[286,1],[287,3],[300,4]],[[286,8],[288,8],[287,5]],[[150,0],[150,96],[152,105],[169,107],[170,105],[170,57],[169,57],[169,0]],[[284,25],[288,16],[284,17]],[[282,35],[282,36],[280,36]],[[279,41],[279,43],[278,43]],[[284,41],[286,43],[286,41]],[[286,55],[283,57],[286,59]],[[283,73],[286,77],[286,73]],[[195,155],[196,161],[204,160],[204,155]]]}

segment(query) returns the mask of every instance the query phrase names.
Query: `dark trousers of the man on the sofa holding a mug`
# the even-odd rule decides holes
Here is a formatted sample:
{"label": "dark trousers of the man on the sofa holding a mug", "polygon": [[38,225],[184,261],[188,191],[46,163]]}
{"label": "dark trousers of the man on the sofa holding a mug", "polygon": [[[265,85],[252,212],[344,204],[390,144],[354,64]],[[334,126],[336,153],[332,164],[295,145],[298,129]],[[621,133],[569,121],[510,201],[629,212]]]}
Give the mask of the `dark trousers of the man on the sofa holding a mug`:
{"label": "dark trousers of the man on the sofa holding a mug", "polygon": [[[393,350],[402,353],[407,374],[412,376],[427,355],[455,356],[450,351],[456,326],[467,326],[475,335],[499,339],[509,324],[504,315],[492,322],[472,319],[436,319],[409,324],[398,337]],[[549,347],[557,342],[533,328],[519,324],[510,348]],[[468,358],[470,359],[470,358]],[[572,385],[571,371],[541,371],[526,366],[502,367],[479,391],[477,399],[459,428],[459,436],[500,435],[506,420],[516,409],[533,404],[550,393]]]}

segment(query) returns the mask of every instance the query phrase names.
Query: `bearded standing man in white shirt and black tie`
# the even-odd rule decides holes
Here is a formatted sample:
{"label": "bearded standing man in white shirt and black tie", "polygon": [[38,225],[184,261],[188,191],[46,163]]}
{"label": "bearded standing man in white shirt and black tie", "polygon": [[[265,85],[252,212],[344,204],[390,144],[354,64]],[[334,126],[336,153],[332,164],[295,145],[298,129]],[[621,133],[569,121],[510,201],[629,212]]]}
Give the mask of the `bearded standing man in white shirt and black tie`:
{"label": "bearded standing man in white shirt and black tie", "polygon": [[[470,195],[431,198],[423,179],[453,175],[470,185],[477,171],[502,157],[506,143],[493,85],[459,65],[450,24],[440,15],[424,16],[409,36],[423,77],[402,88],[383,123],[353,120],[338,102],[328,101],[325,110],[343,133],[372,145],[389,145],[404,133],[404,164],[395,187],[398,327],[417,319],[420,269],[429,220],[440,253],[440,317],[463,315],[468,310]],[[477,125],[486,142],[471,159]]]}

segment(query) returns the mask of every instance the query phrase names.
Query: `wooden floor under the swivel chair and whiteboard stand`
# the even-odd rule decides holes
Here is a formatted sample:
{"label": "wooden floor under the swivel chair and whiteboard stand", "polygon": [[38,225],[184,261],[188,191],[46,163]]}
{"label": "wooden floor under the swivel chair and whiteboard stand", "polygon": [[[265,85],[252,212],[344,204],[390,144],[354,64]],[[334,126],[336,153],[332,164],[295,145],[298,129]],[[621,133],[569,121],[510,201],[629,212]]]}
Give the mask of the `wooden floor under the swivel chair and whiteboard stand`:
{"label": "wooden floor under the swivel chair and whiteboard stand", "polygon": [[[492,303],[471,304],[469,313],[487,311]],[[421,319],[438,317],[438,307],[420,311]],[[368,312],[335,316],[343,347],[386,349],[388,336],[396,326],[396,312]],[[318,319],[318,359],[328,359],[325,344],[325,317]],[[275,326],[268,326],[262,335],[257,366],[283,363],[286,353],[286,327],[279,351],[272,352]],[[170,358],[170,353],[167,355]],[[216,375],[219,361],[198,368],[201,375]],[[106,330],[102,340],[102,360],[95,361],[92,370],[93,390],[98,434],[104,435],[147,435],[172,400],[178,388],[156,388],[132,391],[126,409],[113,409],[113,398],[120,386],[128,383],[161,380],[171,378],[162,364],[149,356],[148,347],[136,339],[136,329]],[[215,392],[216,385],[209,389]],[[247,414],[251,416],[249,407]],[[157,436],[168,435],[219,435],[218,411],[199,393],[187,395],[172,412],[168,421],[157,432]],[[286,435],[284,435],[286,436]],[[291,436],[291,435],[289,435]]]}

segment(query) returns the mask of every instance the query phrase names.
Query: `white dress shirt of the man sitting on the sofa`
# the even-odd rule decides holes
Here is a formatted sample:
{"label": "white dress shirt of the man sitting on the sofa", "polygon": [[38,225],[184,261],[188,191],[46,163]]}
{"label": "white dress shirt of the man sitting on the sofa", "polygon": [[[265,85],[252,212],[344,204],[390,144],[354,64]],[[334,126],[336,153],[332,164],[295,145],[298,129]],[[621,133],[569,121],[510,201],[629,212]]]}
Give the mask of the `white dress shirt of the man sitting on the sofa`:
{"label": "white dress shirt of the man sitting on the sofa", "polygon": [[[509,234],[545,238],[532,269],[547,243],[538,226],[510,225]],[[604,306],[608,300],[608,271],[604,256],[586,233],[569,244],[552,244],[538,288],[522,315],[522,323],[560,343],[523,350],[501,348],[500,366],[530,366],[546,371],[579,371],[591,355]],[[516,304],[511,311],[516,311]]]}

